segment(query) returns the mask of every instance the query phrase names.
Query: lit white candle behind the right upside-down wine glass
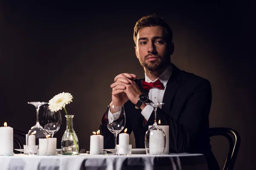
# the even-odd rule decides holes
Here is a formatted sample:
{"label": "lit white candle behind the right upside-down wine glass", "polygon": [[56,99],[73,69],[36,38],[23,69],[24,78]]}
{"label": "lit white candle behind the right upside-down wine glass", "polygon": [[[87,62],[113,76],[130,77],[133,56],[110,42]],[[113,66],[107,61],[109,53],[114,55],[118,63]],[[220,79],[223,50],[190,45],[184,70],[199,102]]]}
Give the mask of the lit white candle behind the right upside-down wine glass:
{"label": "lit white candle behind the right upside-down wine glass", "polygon": [[[169,126],[161,125],[161,121],[158,121],[158,126],[163,130],[166,135],[166,147],[164,150],[164,154],[169,154]],[[150,128],[152,126],[148,126]],[[161,147],[163,146],[164,137],[161,135],[160,131],[152,130],[152,135],[150,134],[149,138],[149,152],[151,151],[152,154],[160,154]],[[150,144],[151,143],[151,144]]]}

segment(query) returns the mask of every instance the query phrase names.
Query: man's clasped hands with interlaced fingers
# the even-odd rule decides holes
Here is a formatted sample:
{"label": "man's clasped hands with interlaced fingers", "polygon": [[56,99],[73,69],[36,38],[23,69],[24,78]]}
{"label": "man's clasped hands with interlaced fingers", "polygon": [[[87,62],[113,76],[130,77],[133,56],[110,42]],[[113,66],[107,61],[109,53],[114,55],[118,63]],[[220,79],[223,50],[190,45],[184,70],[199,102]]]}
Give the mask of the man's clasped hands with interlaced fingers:
{"label": "man's clasped hands with interlaced fingers", "polygon": [[112,102],[110,105],[122,106],[130,100],[134,105],[137,104],[140,88],[137,86],[137,76],[135,74],[122,73],[115,77],[112,88]]}

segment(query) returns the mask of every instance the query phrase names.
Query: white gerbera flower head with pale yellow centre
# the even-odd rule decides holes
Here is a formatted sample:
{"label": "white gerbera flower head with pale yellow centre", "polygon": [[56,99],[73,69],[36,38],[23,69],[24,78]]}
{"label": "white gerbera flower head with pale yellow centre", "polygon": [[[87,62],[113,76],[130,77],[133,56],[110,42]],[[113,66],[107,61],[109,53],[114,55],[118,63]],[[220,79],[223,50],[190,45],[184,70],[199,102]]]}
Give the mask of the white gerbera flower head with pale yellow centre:
{"label": "white gerbera flower head with pale yellow centre", "polygon": [[73,96],[70,93],[60,93],[49,100],[49,109],[57,112],[72,102]]}

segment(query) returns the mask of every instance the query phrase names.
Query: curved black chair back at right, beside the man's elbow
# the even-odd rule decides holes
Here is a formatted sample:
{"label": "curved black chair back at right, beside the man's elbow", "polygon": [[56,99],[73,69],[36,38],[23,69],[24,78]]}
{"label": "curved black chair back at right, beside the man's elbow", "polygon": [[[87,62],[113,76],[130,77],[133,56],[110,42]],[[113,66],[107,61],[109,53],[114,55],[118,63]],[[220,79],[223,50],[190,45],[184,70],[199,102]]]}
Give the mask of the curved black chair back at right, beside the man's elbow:
{"label": "curved black chair back at right, beside the man's elbow", "polygon": [[[241,143],[239,133],[228,127],[211,127],[209,128],[209,137],[212,136],[225,136],[228,139],[230,147],[223,170],[233,170]],[[234,136],[234,140],[232,136]]]}

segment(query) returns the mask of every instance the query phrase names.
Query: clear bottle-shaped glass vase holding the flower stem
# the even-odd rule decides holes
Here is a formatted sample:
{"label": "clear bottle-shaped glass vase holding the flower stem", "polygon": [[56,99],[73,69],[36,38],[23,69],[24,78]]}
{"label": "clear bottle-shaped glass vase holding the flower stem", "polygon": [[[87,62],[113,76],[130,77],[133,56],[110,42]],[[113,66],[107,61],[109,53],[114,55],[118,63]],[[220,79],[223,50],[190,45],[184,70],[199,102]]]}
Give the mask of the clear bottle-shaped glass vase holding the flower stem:
{"label": "clear bottle-shaped glass vase holding the flower stem", "polygon": [[66,130],[61,139],[61,155],[79,155],[79,144],[73,128],[74,115],[65,115],[67,118]]}

